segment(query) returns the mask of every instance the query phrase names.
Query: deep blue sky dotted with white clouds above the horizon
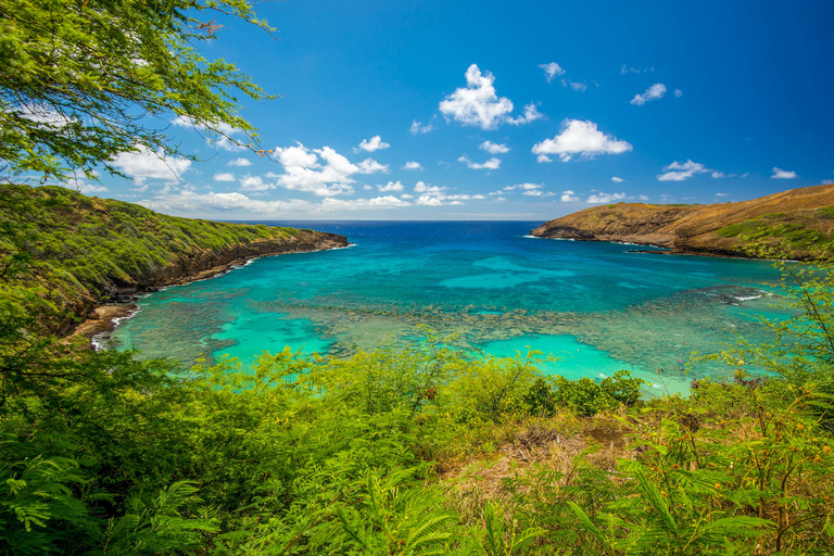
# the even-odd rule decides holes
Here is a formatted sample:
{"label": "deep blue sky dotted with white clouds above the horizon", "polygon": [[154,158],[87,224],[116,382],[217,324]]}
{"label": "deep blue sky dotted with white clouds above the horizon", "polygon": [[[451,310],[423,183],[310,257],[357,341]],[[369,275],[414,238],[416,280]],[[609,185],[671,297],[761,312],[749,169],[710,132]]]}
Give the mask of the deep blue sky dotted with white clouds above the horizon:
{"label": "deep blue sky dotted with white clouds above the horizon", "polygon": [[[532,219],[834,180],[832,2],[265,2],[205,47],[271,160],[170,134],[90,194],[222,219]],[[235,130],[230,130],[236,137]],[[244,165],[245,164],[245,165]],[[176,172],[176,176],[172,174]]]}

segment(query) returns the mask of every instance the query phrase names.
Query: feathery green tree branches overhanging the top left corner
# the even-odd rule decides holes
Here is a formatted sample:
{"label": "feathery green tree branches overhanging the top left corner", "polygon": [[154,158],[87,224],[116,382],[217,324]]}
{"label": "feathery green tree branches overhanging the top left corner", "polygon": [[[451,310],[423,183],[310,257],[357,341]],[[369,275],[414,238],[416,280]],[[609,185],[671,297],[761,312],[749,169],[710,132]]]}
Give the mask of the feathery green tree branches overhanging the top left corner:
{"label": "feathery green tree branches overhanging the top left corner", "polygon": [[[269,33],[247,0],[0,0],[0,180],[94,177],[121,152],[182,154],[148,116],[229,138],[262,89],[195,49],[237,17]],[[167,124],[167,123],[166,123]]]}

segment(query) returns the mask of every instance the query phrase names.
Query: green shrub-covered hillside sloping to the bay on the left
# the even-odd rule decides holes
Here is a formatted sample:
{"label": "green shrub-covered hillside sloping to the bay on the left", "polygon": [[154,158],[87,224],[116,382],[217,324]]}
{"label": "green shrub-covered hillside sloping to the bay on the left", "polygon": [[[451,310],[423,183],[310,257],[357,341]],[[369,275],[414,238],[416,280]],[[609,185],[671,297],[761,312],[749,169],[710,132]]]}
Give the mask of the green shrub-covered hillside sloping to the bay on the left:
{"label": "green shrub-covered hillside sloping to the bay on the left", "polygon": [[344,238],[312,230],[179,218],[61,187],[0,186],[0,277],[41,287],[86,314],[128,290],[161,286],[232,260]]}

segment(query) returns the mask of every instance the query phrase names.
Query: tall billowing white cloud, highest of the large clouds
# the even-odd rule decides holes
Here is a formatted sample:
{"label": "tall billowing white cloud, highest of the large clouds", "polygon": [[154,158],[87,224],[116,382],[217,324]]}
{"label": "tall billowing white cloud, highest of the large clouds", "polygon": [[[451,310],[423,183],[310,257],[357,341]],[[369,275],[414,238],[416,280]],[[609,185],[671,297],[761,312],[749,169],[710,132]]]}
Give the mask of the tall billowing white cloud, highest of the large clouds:
{"label": "tall billowing white cloud, highest of the large clouds", "polygon": [[446,119],[482,129],[495,129],[505,122],[521,125],[542,117],[535,104],[525,106],[523,115],[510,117],[513,101],[506,97],[498,97],[494,83],[495,77],[490,72],[481,73],[477,64],[470,65],[466,71],[466,87],[455,89],[452,94],[442,100],[439,106],[440,112]]}

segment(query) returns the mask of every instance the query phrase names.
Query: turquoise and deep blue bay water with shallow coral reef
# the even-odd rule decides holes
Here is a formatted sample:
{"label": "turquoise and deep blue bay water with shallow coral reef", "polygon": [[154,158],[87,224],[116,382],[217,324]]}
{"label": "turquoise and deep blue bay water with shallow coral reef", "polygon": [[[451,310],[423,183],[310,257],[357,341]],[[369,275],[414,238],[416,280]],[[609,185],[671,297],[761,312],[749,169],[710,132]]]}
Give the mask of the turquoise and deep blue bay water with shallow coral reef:
{"label": "turquoise and deep blue bay water with shallow coral reef", "polygon": [[681,391],[726,370],[687,367],[693,352],[720,350],[737,333],[764,339],[755,315],[774,311],[779,277],[766,262],[527,236],[540,223],[275,224],[355,245],[261,258],[153,293],[111,342],[185,364],[222,354],[248,363],[285,345],[350,355],[426,325],[495,355],[528,345],[553,353],[560,361],[545,370],[570,378],[624,368]]}

